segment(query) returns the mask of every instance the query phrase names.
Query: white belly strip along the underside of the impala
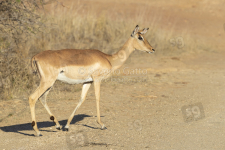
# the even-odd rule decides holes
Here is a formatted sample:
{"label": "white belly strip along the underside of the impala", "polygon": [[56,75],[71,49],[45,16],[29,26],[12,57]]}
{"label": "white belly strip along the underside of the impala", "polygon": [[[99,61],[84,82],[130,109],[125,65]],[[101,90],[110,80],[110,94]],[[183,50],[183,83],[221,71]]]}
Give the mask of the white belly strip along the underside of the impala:
{"label": "white belly strip along the underside of the impala", "polygon": [[70,79],[67,76],[65,76],[64,73],[60,73],[57,77],[57,80],[60,80],[62,82],[69,83],[69,84],[80,84],[80,83],[93,81],[91,77],[87,79]]}

